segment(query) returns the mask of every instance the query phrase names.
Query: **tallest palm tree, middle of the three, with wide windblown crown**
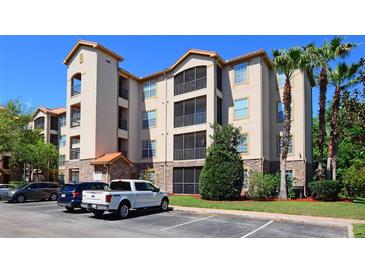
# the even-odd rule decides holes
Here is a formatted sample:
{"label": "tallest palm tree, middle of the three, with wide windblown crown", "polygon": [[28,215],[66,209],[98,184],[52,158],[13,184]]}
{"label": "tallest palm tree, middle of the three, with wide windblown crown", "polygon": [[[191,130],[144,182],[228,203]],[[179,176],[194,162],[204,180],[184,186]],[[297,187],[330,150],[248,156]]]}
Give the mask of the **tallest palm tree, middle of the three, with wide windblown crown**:
{"label": "tallest palm tree, middle of the three, with wide windblown crown", "polygon": [[325,41],[322,47],[316,47],[314,44],[309,44],[305,47],[305,51],[310,56],[311,65],[313,68],[320,68],[318,77],[319,85],[319,129],[318,129],[318,168],[316,170],[319,179],[324,178],[322,166],[324,141],[326,138],[326,93],[328,85],[328,68],[329,63],[338,57],[346,57],[350,51],[357,46],[354,43],[342,43],[343,37],[334,37],[331,41]]}

